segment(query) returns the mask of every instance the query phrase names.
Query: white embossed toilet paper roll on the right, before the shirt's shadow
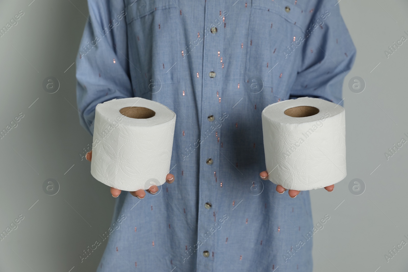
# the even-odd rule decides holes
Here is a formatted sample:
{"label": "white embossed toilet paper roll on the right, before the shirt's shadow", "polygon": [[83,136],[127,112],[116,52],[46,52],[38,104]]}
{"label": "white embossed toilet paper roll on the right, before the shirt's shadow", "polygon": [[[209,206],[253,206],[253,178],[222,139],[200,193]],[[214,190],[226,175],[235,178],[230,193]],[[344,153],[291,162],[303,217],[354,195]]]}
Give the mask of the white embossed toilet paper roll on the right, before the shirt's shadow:
{"label": "white embossed toilet paper roll on the right, before the shirt's shadow", "polygon": [[291,190],[323,188],[346,177],[344,108],[301,97],[267,106],[262,130],[269,180]]}

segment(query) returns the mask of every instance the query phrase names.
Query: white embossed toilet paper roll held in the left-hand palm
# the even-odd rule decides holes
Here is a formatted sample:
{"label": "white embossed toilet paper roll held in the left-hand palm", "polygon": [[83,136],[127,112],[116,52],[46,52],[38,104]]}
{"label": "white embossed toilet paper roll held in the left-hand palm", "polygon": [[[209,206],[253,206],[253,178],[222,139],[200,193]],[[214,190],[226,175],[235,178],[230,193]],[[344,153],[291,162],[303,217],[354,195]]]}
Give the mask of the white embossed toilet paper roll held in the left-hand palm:
{"label": "white embossed toilet paper roll held in the left-hand palm", "polygon": [[98,104],[91,174],[125,191],[162,185],[170,170],[175,121],[169,108],[140,97]]}

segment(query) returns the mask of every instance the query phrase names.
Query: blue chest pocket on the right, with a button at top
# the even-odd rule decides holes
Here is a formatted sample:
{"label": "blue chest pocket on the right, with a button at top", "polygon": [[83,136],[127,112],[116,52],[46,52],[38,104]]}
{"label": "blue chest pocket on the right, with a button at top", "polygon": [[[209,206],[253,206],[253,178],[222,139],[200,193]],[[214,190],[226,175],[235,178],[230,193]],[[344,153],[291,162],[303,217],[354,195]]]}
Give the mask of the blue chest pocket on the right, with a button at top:
{"label": "blue chest pocket on the right, with a button at top", "polygon": [[[247,84],[258,84],[258,90],[262,84],[265,91],[277,95],[273,87],[284,88],[280,84],[277,86],[277,81],[288,82],[288,77],[293,77],[284,71],[295,71],[296,57],[290,55],[289,58],[285,52],[295,43],[296,37],[304,36],[305,13],[285,0],[252,0],[245,66]],[[301,53],[301,48],[295,50]]]}

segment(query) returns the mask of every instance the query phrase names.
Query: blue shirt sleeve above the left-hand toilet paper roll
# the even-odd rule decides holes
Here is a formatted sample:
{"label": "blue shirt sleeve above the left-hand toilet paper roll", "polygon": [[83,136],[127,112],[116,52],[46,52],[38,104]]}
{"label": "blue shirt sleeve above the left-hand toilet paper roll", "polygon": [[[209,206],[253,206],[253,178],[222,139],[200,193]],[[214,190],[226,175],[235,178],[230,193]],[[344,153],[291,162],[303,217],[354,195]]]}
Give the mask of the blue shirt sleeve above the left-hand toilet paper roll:
{"label": "blue shirt sleeve above the left-hand toilet paper roll", "polygon": [[76,95],[80,124],[93,135],[96,105],[133,92],[124,1],[88,0],[88,7],[76,58]]}

